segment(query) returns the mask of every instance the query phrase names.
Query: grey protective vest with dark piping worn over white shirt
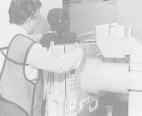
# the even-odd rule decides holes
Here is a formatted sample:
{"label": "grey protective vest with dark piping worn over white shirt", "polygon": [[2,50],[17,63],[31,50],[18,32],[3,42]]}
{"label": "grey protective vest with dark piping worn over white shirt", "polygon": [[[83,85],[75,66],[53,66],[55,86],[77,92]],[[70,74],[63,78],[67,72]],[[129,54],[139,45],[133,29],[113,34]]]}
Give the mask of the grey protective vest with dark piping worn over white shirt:
{"label": "grey protective vest with dark piping worn over white shirt", "polygon": [[42,71],[39,70],[36,83],[25,75],[26,59],[34,43],[24,35],[16,35],[8,46],[0,74],[1,98],[16,105],[27,116],[41,116]]}

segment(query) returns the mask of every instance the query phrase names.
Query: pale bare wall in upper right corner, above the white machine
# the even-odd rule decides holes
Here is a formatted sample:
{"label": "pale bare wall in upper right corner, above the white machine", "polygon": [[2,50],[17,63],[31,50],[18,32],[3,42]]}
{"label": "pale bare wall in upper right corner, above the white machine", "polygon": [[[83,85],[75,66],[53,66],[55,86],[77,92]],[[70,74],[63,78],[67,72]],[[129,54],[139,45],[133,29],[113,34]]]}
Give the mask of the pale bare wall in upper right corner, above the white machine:
{"label": "pale bare wall in upper right corner, above the white machine", "polygon": [[142,39],[142,1],[118,0],[117,22],[132,28],[132,36]]}

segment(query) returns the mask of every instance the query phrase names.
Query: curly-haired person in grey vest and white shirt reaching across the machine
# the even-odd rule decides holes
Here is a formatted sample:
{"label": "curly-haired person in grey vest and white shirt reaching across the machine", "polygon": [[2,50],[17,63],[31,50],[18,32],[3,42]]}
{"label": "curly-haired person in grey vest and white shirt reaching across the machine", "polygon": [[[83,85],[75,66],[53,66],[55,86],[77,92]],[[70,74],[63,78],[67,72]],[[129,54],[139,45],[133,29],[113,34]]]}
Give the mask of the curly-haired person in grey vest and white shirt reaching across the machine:
{"label": "curly-haired person in grey vest and white shirt reaching across the machine", "polygon": [[59,57],[30,38],[40,23],[39,0],[11,0],[9,26],[0,32],[0,116],[41,116],[42,70],[76,69],[84,56],[76,49]]}

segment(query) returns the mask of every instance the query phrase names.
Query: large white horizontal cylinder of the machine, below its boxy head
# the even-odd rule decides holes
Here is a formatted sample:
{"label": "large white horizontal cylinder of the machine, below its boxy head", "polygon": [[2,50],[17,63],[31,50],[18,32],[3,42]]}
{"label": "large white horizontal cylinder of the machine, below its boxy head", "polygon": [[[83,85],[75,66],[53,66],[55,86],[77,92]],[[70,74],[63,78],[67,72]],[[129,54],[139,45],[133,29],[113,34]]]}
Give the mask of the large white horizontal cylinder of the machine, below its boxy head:
{"label": "large white horizontal cylinder of the machine, below its boxy head", "polygon": [[99,94],[101,91],[127,94],[128,71],[127,63],[110,63],[88,58],[81,72],[81,87],[84,92],[92,94]]}

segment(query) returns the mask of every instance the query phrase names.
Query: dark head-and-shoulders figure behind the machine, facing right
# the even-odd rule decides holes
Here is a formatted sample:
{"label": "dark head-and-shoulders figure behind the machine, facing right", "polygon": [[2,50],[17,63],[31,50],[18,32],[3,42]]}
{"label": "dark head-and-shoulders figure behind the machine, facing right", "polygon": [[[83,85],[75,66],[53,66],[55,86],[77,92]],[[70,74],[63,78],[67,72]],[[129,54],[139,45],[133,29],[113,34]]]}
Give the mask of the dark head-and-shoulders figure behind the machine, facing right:
{"label": "dark head-and-shoulders figure behind the machine, facing right", "polygon": [[48,13],[47,20],[51,26],[48,34],[44,35],[40,41],[43,47],[49,48],[50,42],[54,44],[69,44],[74,43],[76,35],[73,33],[66,33],[68,20],[67,12],[62,8],[51,9]]}

